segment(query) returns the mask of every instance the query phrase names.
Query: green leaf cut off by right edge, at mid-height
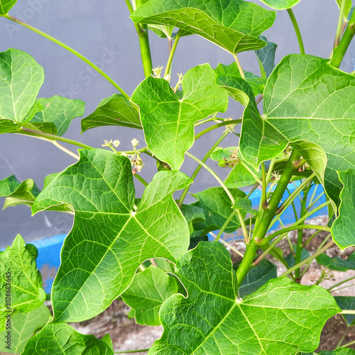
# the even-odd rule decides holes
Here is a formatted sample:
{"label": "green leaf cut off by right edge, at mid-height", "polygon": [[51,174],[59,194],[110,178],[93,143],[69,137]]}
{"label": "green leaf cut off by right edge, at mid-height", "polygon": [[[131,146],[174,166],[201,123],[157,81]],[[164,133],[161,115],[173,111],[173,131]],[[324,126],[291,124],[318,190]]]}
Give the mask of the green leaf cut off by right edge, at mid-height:
{"label": "green leaf cut off by right edge, at mid-height", "polygon": [[[355,170],[349,169],[346,172],[339,172],[339,180],[344,185],[344,188],[340,192],[340,200],[342,202],[339,206],[339,217],[332,226],[332,236],[339,248],[344,250],[348,246],[355,244]],[[353,260],[355,261],[355,256]]]}

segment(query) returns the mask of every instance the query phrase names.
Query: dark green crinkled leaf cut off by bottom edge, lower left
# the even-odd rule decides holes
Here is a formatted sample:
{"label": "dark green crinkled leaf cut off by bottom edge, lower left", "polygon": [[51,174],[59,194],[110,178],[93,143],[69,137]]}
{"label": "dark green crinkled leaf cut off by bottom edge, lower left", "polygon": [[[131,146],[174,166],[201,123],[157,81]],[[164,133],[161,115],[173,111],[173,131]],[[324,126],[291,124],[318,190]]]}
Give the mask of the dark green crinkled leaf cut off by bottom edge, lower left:
{"label": "dark green crinkled leaf cut off by bottom edge, lower left", "polygon": [[105,339],[77,332],[68,324],[46,324],[26,344],[22,355],[113,355]]}

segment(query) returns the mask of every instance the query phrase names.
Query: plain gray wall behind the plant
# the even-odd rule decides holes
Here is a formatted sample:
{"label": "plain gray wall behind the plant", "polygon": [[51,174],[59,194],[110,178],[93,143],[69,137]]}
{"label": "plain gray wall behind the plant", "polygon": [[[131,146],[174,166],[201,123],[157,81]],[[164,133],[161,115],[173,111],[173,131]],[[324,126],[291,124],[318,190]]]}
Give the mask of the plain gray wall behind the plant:
{"label": "plain gray wall behind the plant", "polygon": [[[259,4],[257,0],[254,2]],[[304,36],[306,53],[328,58],[339,14],[335,0],[302,0],[294,12]],[[124,0],[19,0],[10,13],[101,65],[129,94],[143,80],[138,39]],[[286,11],[278,11],[275,26],[264,34],[269,40],[278,43],[276,62],[290,53],[299,53],[295,32]],[[116,92],[109,82],[92,72],[79,58],[40,35],[16,26],[6,18],[0,18],[0,52],[8,48],[30,53],[44,67],[45,83],[39,97],[60,94],[71,99],[82,99],[86,103],[87,115],[94,111],[104,97]],[[168,58],[166,40],[151,33],[151,50],[153,66],[164,66]],[[344,59],[344,70],[354,70],[354,54],[353,43]],[[258,73],[258,63],[253,53],[241,53],[240,60],[245,70]],[[219,62],[229,64],[232,61],[231,55],[197,35],[182,38],[173,61],[173,82],[177,78],[176,73],[185,73],[195,65],[209,62],[216,67]],[[224,116],[239,118],[241,114],[241,106],[231,103]],[[199,146],[193,148],[192,152],[203,156],[222,131],[201,138]],[[79,118],[72,122],[65,136],[95,147],[101,147],[104,139],[111,138],[119,139],[122,149],[130,149],[133,138],[138,138],[140,147],[144,144],[143,133],[133,129],[103,127],[81,135]],[[235,135],[229,135],[224,146],[235,146],[236,139]],[[18,180],[33,178],[42,187],[46,175],[59,172],[72,163],[75,163],[73,158],[45,141],[13,134],[0,136],[0,180],[15,174]],[[155,173],[154,162],[145,158],[144,163],[146,167],[142,175],[149,180]],[[209,162],[209,165],[214,167],[215,164]],[[195,166],[195,163],[187,160],[182,170],[191,174]],[[218,171],[222,177],[226,176],[226,170],[220,168]],[[202,170],[191,191],[197,192],[214,185],[214,180]],[[142,186],[137,183],[136,187],[137,195],[140,195]],[[1,205],[2,202],[0,199]],[[66,214],[45,212],[31,217],[28,207],[10,207],[0,212],[0,247],[11,244],[18,233],[29,241],[66,233],[71,226],[72,218]]]}

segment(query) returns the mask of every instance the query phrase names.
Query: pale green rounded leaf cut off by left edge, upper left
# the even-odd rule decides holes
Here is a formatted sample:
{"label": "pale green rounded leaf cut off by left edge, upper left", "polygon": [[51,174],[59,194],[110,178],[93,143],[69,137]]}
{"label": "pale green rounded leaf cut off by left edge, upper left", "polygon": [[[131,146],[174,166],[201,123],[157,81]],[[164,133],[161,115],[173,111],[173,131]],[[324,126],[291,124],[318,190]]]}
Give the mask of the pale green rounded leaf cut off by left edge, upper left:
{"label": "pale green rounded leaf cut off by left edge, upper left", "polygon": [[0,53],[0,122],[22,122],[33,107],[43,80],[43,67],[31,55],[12,48]]}

